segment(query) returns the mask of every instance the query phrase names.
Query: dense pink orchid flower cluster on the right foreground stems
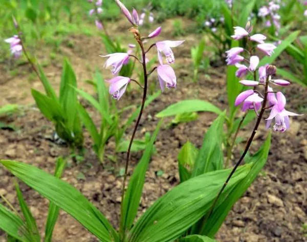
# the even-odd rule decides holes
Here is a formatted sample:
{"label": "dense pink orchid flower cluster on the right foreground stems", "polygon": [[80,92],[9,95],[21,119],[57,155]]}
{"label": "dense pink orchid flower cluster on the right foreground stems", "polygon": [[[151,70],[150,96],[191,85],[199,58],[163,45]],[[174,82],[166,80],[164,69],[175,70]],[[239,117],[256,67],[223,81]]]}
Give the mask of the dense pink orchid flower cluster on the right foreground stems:
{"label": "dense pink orchid flower cluster on the right foreground stems", "polygon": [[[252,27],[250,24],[247,24],[247,27],[244,29],[242,27],[234,27],[234,35],[231,37],[233,39],[239,40],[246,38],[248,44],[251,46],[251,50],[245,50],[241,47],[234,47],[226,52],[227,54],[227,64],[235,65],[238,69],[236,71],[237,77],[245,77],[248,73],[254,76],[254,80],[240,80],[239,82],[245,86],[253,86],[252,90],[247,90],[240,93],[236,100],[235,106],[242,104],[242,111],[246,112],[248,110],[254,110],[259,117],[259,110],[261,108],[261,115],[263,112],[268,109],[271,111],[267,120],[267,128],[270,127],[270,124],[273,119],[275,119],[275,125],[273,127],[274,131],[284,132],[290,127],[289,116],[296,116],[298,114],[289,112],[285,109],[286,106],[286,97],[281,92],[274,92],[272,87],[269,84],[274,84],[277,86],[288,86],[290,82],[282,79],[272,79],[276,73],[276,67],[273,65],[259,65],[259,57],[257,55],[252,55],[253,43],[257,43],[257,49],[264,52],[266,55],[270,56],[274,49],[276,48],[271,43],[265,43],[267,38],[262,34],[250,35]],[[249,58],[239,55],[240,53],[247,52]],[[247,62],[248,65],[245,65],[240,62]],[[258,79],[257,77],[258,72]],[[257,91],[258,86],[266,86],[265,94],[261,94]],[[264,103],[265,102],[265,103]]]}

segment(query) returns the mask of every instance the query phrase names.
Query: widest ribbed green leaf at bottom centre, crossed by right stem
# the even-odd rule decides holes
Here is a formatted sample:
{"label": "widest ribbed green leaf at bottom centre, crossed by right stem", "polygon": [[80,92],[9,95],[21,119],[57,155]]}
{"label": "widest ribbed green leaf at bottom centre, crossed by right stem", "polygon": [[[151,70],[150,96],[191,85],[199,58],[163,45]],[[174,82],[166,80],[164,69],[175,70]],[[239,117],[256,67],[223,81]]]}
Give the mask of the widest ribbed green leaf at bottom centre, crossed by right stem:
{"label": "widest ribbed green leaf at bottom centre, crossed by right stem", "polygon": [[[232,189],[250,171],[239,167],[222,194]],[[129,242],[176,240],[211,207],[231,170],[217,170],[189,179],[160,197],[130,231]],[[153,232],[154,231],[154,232]]]}

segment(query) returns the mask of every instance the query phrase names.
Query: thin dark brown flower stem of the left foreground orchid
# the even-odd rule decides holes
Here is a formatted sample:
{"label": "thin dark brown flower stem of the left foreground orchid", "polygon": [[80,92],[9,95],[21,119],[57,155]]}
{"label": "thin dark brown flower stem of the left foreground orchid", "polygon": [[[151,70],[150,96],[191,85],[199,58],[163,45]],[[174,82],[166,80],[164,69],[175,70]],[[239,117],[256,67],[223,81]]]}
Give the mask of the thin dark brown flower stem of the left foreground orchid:
{"label": "thin dark brown flower stem of the left foreground orchid", "polygon": [[[133,130],[130,142],[129,142],[129,146],[128,146],[128,150],[127,150],[127,157],[126,157],[126,164],[125,164],[125,173],[124,173],[124,181],[123,181],[123,186],[122,186],[122,193],[121,193],[121,216],[124,214],[123,213],[123,201],[124,201],[124,195],[125,195],[125,187],[126,187],[126,182],[127,182],[127,173],[128,173],[128,165],[129,165],[129,158],[130,158],[130,151],[131,151],[131,146],[133,144],[133,140],[135,138],[136,135],[136,131],[137,128],[139,126],[142,114],[143,114],[143,110],[144,110],[144,106],[145,106],[145,101],[146,101],[146,95],[147,95],[147,79],[148,79],[148,74],[147,74],[147,69],[146,69],[146,52],[144,51],[144,46],[143,46],[143,42],[140,39],[137,39],[141,50],[142,50],[142,66],[143,66],[143,74],[144,74],[144,89],[143,89],[143,99],[142,99],[142,104],[141,104],[141,109],[140,109],[140,113],[138,116],[138,119],[135,123],[135,128]],[[122,218],[121,218],[122,219]],[[125,238],[125,228],[123,231],[120,231],[122,233],[122,239],[124,240]]]}

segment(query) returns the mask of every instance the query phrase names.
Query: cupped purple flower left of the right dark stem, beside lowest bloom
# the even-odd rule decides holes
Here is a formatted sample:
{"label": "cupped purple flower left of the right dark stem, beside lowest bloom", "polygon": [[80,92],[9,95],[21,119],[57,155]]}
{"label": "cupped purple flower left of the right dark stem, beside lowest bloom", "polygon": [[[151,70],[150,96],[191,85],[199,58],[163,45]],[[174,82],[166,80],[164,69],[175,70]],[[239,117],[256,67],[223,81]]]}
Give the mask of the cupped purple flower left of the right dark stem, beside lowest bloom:
{"label": "cupped purple flower left of the right dark stem, beside lowest bloom", "polygon": [[254,109],[255,111],[258,111],[263,100],[264,99],[259,97],[258,94],[254,93],[253,90],[247,90],[237,96],[234,105],[238,106],[243,103],[241,108],[243,112],[247,111],[247,109]]}

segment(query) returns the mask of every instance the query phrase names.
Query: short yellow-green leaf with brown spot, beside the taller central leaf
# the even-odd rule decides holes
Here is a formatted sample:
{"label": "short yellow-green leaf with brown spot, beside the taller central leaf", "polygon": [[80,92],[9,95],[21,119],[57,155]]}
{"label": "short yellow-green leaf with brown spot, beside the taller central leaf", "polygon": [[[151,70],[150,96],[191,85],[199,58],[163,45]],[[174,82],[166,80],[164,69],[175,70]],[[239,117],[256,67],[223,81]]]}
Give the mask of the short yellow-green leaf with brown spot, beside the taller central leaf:
{"label": "short yellow-green leaf with brown spot, beside the taller central leaf", "polygon": [[178,154],[178,168],[180,181],[185,182],[190,179],[196,157],[199,150],[190,142],[186,142]]}

